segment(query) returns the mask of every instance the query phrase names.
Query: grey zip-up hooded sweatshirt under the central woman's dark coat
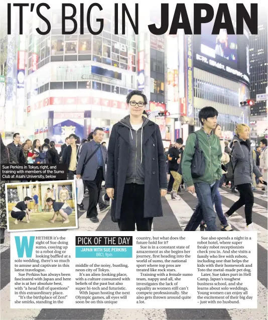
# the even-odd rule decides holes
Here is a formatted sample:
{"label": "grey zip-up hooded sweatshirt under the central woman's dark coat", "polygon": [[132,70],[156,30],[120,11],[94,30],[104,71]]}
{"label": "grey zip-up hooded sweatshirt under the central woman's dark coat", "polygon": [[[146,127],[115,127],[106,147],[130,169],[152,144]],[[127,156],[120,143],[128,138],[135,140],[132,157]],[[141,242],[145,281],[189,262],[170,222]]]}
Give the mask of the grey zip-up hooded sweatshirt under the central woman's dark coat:
{"label": "grey zip-up hooded sweatshirt under the central woman's dark coat", "polygon": [[126,172],[125,183],[144,184],[145,179],[145,157],[143,148],[143,131],[149,119],[143,117],[143,124],[136,131],[130,125],[130,117],[126,116],[120,124],[129,129],[129,162]]}

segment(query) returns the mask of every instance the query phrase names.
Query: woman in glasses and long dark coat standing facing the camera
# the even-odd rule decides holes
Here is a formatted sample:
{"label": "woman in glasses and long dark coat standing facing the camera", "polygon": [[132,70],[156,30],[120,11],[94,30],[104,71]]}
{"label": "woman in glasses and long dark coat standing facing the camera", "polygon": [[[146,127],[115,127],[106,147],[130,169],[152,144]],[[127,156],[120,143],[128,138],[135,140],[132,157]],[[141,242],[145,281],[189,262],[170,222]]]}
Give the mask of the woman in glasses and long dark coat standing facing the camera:
{"label": "woman in glasses and long dark coat standing facing the camera", "polygon": [[167,170],[159,126],[144,117],[147,98],[128,93],[130,115],[115,124],[108,144],[105,177],[112,199],[111,218],[120,231],[151,231],[154,217],[163,217],[161,196],[167,194]]}

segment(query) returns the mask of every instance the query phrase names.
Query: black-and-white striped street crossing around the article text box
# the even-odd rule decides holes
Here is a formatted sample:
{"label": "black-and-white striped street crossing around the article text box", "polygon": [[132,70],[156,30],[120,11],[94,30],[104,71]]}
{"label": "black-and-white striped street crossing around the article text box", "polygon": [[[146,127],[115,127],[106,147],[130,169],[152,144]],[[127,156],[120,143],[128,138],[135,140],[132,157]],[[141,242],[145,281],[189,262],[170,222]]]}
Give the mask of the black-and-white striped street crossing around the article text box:
{"label": "black-and-white striped street crossing around the article text box", "polygon": [[[223,212],[238,200],[237,194],[229,189],[220,190]],[[5,244],[1,245],[1,319],[37,320],[37,319],[99,319],[99,320],[166,320],[166,319],[232,319],[241,318],[264,320],[267,318],[267,199],[254,192],[252,221],[258,231],[258,307],[256,309],[10,309],[10,238],[6,234]],[[87,207],[88,198],[85,198]],[[183,231],[197,204],[196,195],[186,191],[181,200],[171,200],[167,195],[162,200],[164,217],[154,219],[152,231]],[[86,218],[86,212],[80,212],[79,229],[66,232],[118,231],[117,224],[110,219],[109,211],[98,214],[99,223]],[[245,227],[244,209],[238,209],[231,217],[230,224],[235,232]],[[220,224],[218,222],[218,230]],[[197,230],[199,231],[199,230]]]}

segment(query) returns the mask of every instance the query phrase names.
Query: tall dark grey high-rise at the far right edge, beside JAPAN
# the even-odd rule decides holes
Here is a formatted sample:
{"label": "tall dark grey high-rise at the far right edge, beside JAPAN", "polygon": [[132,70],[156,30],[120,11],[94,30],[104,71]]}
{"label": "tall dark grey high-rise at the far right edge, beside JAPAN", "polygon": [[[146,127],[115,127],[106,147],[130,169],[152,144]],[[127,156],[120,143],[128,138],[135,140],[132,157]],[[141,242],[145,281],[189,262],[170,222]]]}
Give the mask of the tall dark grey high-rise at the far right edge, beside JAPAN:
{"label": "tall dark grey high-rise at the far right edge, beside JAPAN", "polygon": [[[267,87],[267,15],[258,21],[258,34],[249,36],[250,97],[266,93]],[[266,114],[266,101],[256,101],[251,116]]]}

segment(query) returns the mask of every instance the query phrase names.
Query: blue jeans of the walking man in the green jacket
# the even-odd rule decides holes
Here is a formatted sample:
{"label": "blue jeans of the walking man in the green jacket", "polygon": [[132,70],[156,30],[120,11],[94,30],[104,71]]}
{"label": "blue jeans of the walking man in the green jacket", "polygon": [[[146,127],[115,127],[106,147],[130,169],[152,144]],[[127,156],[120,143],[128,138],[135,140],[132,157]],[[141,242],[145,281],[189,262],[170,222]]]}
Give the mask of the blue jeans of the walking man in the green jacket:
{"label": "blue jeans of the walking man in the green jacket", "polygon": [[194,184],[198,204],[184,231],[195,231],[203,219],[206,221],[207,231],[217,231],[213,199],[218,190],[219,182],[220,180],[217,180],[212,186],[206,182]]}

